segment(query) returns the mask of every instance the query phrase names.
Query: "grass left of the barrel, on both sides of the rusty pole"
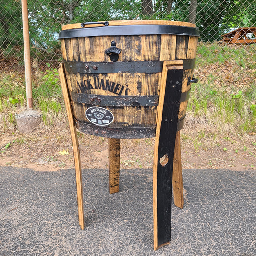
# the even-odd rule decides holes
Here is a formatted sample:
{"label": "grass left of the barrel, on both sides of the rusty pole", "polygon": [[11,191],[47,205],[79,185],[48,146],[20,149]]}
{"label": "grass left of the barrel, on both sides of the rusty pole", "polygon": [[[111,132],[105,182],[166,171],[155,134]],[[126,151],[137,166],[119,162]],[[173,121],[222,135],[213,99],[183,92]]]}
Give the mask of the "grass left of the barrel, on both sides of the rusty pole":
{"label": "grass left of the barrel, on both sides of the rusty pole", "polygon": [[[33,74],[32,94],[35,109],[42,113],[46,125],[54,125],[65,115],[61,86],[57,69],[49,64],[44,73]],[[15,113],[26,108],[24,74],[2,72],[0,74],[0,128],[15,130]]]}

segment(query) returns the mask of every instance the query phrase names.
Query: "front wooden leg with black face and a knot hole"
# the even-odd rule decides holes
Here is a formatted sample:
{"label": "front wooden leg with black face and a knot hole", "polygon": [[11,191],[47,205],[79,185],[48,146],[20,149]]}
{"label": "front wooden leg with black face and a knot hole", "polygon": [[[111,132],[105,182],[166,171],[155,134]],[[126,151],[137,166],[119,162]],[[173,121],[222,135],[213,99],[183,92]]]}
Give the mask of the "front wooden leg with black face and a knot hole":
{"label": "front wooden leg with black face and a knot hole", "polygon": [[153,165],[154,250],[171,240],[172,171],[183,62],[164,61]]}

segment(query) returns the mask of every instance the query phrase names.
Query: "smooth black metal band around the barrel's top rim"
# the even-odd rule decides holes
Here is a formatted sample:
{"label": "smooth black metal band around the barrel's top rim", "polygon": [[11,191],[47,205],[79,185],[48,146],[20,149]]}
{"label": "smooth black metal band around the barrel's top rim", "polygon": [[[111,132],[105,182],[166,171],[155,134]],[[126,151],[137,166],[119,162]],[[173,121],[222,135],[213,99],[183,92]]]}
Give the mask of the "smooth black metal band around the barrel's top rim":
{"label": "smooth black metal band around the barrel's top rim", "polygon": [[133,36],[133,35],[183,35],[199,37],[199,29],[175,25],[119,25],[104,27],[86,27],[62,30],[58,39],[97,36]]}

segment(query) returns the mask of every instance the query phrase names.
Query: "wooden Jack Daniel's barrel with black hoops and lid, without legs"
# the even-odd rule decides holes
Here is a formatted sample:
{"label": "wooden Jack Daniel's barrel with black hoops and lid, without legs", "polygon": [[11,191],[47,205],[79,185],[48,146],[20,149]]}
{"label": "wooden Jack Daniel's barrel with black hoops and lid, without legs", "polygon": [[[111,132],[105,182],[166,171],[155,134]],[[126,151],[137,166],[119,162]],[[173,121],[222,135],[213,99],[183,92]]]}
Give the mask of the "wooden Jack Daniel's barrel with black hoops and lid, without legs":
{"label": "wooden Jack Daniel's barrel with black hoops and lid, without legs", "polygon": [[129,20],[79,23],[59,34],[78,130],[109,138],[155,136],[163,61],[183,61],[183,127],[199,32],[195,24]]}

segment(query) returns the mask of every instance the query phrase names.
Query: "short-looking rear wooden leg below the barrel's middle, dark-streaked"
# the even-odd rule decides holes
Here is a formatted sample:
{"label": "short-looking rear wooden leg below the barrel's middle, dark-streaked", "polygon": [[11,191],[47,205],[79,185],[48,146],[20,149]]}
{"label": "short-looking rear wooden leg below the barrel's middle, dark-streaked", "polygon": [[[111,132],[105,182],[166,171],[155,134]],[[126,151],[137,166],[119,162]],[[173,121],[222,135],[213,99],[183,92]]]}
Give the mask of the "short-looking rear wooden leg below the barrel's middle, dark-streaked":
{"label": "short-looking rear wooden leg below the barrel's middle, dark-streaked", "polygon": [[120,139],[109,138],[109,190],[110,194],[119,191]]}

